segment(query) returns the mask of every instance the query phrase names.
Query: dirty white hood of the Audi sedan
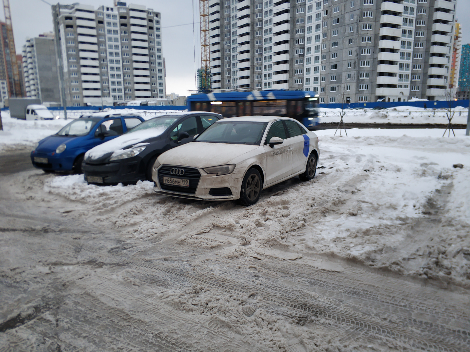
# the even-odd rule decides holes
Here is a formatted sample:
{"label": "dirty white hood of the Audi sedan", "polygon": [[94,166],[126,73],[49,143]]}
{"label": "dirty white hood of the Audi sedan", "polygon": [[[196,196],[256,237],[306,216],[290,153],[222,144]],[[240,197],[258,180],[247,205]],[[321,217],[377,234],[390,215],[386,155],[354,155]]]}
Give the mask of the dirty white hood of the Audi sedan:
{"label": "dirty white hood of the Audi sedan", "polygon": [[208,168],[227,164],[229,161],[258,149],[259,145],[190,142],[166,151],[158,157],[160,164]]}

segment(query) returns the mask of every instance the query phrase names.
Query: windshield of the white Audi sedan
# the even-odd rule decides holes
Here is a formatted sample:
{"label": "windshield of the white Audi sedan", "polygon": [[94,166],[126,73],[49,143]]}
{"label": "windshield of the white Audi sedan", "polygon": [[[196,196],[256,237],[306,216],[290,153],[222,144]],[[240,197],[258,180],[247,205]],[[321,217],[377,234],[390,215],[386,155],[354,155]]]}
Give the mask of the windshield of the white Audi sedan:
{"label": "windshield of the white Audi sedan", "polygon": [[201,133],[196,142],[259,145],[267,122],[222,120]]}

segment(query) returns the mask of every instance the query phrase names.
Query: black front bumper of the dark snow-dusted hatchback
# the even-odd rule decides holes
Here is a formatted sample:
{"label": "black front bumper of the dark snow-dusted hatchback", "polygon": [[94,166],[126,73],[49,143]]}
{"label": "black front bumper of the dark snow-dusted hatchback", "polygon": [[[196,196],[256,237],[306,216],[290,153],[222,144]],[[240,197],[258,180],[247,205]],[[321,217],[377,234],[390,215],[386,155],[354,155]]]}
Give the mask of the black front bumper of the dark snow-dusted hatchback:
{"label": "black front bumper of the dark snow-dusted hatchback", "polygon": [[82,170],[85,181],[88,181],[88,176],[99,176],[102,177],[102,184],[134,183],[139,180],[145,180],[146,177],[145,171],[141,170],[140,163],[141,159],[103,164],[90,164],[84,161],[82,163]]}

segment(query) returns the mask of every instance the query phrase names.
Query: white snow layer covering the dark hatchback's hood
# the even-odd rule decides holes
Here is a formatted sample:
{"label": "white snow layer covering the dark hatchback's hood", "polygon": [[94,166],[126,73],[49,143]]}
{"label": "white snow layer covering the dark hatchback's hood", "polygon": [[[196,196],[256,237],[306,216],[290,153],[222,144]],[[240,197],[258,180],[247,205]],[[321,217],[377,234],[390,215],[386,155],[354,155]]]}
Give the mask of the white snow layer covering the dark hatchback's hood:
{"label": "white snow layer covering the dark hatchback's hood", "polygon": [[133,144],[139,144],[149,138],[160,136],[166,128],[148,128],[141,129],[135,132],[125,133],[122,136],[111,139],[108,142],[97,145],[85,153],[85,159],[98,159],[103,155],[112,152],[118,152],[119,150]]}

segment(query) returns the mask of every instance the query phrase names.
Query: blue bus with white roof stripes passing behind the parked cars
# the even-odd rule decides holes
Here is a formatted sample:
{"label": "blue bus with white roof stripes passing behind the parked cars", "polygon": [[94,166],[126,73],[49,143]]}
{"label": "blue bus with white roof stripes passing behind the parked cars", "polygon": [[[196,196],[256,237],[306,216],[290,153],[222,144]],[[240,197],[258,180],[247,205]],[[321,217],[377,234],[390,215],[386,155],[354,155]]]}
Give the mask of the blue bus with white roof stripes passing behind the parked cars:
{"label": "blue bus with white roof stripes passing behind the parked cars", "polygon": [[306,128],[318,124],[318,95],[304,90],[262,90],[194,94],[188,96],[188,111],[217,112],[224,117],[286,116]]}

